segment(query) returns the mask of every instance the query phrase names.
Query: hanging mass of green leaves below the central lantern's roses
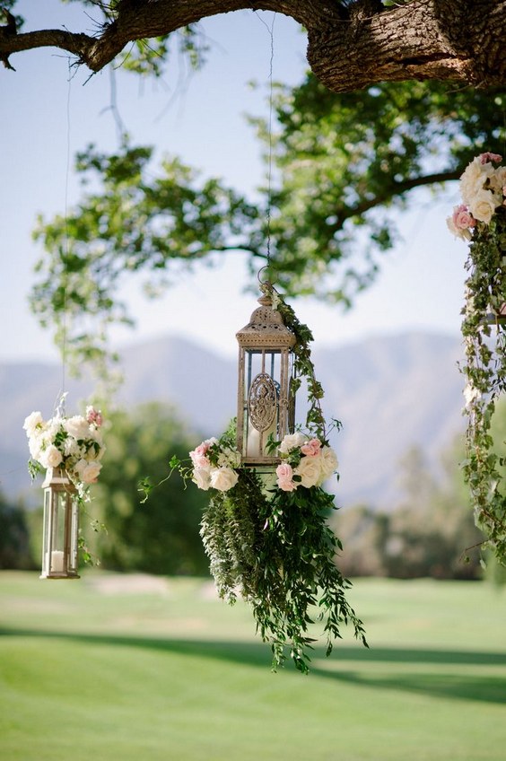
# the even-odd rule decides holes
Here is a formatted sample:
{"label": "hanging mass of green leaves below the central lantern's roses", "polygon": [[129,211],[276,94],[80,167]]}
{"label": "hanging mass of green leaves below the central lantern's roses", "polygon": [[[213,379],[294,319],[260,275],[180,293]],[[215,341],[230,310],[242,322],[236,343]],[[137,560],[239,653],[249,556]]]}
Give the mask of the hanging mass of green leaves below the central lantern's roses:
{"label": "hanging mass of green leaves below the central lantern's roses", "polygon": [[317,622],[327,656],[342,625],[353,625],[355,637],[367,642],[345,598],[351,584],[335,563],[341,545],[327,526],[332,495],[299,486],[270,496],[261,475],[241,468],[230,492],[213,495],[201,536],[220,597],[233,603],[240,594],[249,602],[257,631],[271,645],[273,669],[289,653],[296,668],[308,673]]}

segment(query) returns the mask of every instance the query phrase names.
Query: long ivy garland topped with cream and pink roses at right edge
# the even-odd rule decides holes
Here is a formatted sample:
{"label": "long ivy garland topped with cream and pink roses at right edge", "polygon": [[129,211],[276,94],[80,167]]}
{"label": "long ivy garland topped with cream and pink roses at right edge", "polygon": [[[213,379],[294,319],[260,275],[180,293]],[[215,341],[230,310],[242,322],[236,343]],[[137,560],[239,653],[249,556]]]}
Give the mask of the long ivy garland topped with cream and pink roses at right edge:
{"label": "long ivy garland topped with cream and pink roses at right edge", "polygon": [[506,167],[501,162],[497,153],[482,153],[467,166],[460,178],[463,203],[447,223],[470,244],[462,311],[466,362],[460,368],[467,381],[463,469],[484,547],[506,564],[506,493],[499,469],[505,458],[493,450],[490,434],[495,403],[506,390]]}

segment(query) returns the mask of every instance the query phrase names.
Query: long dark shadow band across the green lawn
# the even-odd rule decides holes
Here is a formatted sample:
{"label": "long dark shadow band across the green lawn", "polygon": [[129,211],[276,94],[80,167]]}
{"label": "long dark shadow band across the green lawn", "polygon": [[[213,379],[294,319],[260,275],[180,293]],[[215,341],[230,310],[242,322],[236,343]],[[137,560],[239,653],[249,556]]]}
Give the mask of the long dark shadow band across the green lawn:
{"label": "long dark shadow band across the green lawn", "polygon": [[[140,647],[177,655],[211,658],[245,666],[268,669],[269,646],[264,643],[209,642],[204,640],[161,639],[115,634],[80,634],[43,632],[31,629],[0,628],[0,637],[20,636],[67,640],[77,643]],[[323,659],[323,660],[322,660]],[[388,663],[393,668],[388,670]],[[328,664],[328,665],[327,665]],[[346,664],[347,668],[345,668]],[[376,668],[387,664],[387,668]],[[371,665],[372,668],[368,668]],[[406,669],[400,667],[406,666]],[[420,666],[437,667],[420,670]],[[474,652],[453,650],[415,650],[405,648],[365,648],[337,644],[330,659],[324,651],[312,652],[310,671],[313,676],[347,683],[356,687],[372,687],[414,692],[435,697],[506,703],[506,677],[476,673],[479,667],[505,667],[506,652]],[[411,668],[410,668],[411,667]],[[474,673],[467,670],[474,669]],[[286,671],[292,671],[290,659]]]}

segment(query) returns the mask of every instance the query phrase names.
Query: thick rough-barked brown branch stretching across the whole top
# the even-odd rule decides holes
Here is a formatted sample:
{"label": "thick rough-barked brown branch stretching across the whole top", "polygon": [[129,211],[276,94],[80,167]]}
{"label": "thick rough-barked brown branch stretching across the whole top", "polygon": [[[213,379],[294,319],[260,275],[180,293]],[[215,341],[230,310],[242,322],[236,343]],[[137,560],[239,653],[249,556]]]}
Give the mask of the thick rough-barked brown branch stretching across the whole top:
{"label": "thick rough-barked brown branch stretching across the whole top", "polygon": [[[1,2],[1,0],[0,0]],[[135,39],[163,37],[218,13],[241,9],[291,16],[308,31],[308,61],[334,92],[410,79],[475,87],[506,83],[506,0],[122,0],[100,34],[40,30],[22,34],[4,12],[0,60],[32,48],[57,47],[98,72]]]}

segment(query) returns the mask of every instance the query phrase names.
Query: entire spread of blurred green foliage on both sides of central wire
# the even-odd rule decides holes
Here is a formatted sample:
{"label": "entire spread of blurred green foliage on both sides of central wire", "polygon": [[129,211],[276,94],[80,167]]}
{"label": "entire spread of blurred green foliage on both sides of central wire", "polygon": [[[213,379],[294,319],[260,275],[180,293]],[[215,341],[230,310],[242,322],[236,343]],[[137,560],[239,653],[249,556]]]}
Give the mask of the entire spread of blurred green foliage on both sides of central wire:
{"label": "entire spread of blurred green foliage on both sides of central wire", "polygon": [[[350,305],[396,241],[395,213],[410,191],[457,179],[476,147],[499,150],[504,108],[499,92],[441,83],[385,83],[337,96],[309,76],[293,90],[279,88],[266,276],[290,295]],[[266,125],[256,124],[267,141]],[[47,253],[32,308],[60,340],[66,311],[67,347],[80,359],[103,355],[109,325],[129,321],[117,297],[127,273],[144,272],[154,295],[213,251],[244,251],[252,272],[267,257],[266,188],[253,206],[178,159],[156,170],[152,156],[126,141],[110,155],[91,146],[77,155],[79,205],[66,220],[39,220],[35,235]]]}

